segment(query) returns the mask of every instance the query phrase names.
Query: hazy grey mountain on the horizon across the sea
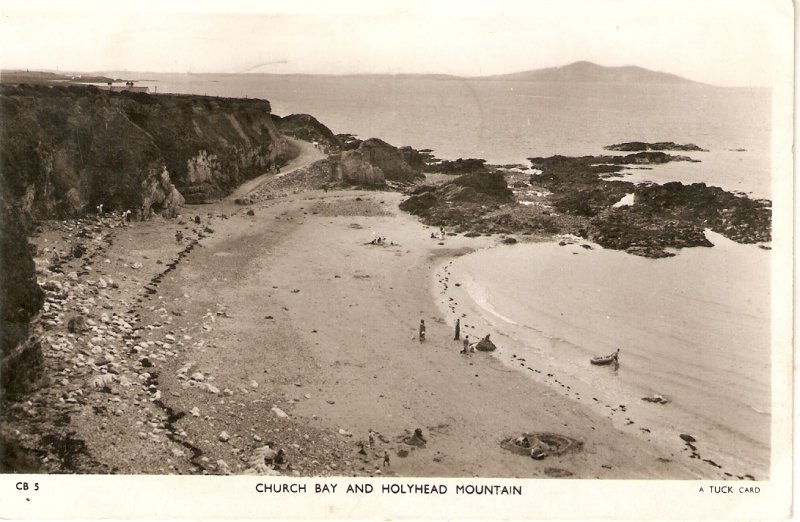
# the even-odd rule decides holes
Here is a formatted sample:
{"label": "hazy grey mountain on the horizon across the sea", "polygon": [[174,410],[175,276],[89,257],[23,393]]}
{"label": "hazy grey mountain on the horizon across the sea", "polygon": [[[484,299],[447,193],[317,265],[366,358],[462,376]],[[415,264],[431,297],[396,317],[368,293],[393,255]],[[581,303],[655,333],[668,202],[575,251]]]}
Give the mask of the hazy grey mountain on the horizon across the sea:
{"label": "hazy grey mountain on the horizon across the sea", "polygon": [[561,67],[482,76],[481,79],[571,83],[698,83],[675,74],[651,71],[635,65],[605,67],[585,61]]}

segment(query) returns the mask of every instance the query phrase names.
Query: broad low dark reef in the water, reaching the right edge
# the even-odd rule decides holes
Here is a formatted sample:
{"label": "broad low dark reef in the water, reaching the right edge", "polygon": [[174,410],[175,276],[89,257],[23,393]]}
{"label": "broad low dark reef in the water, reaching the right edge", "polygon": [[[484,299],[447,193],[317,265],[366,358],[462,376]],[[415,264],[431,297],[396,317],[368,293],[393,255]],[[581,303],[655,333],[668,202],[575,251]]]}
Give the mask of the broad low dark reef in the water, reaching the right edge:
{"label": "broad low dark reef in the water, reaching the right edge", "polygon": [[[636,185],[602,177],[627,164],[686,161],[684,156],[657,151],[618,157],[552,156],[530,161],[541,171],[530,177],[530,183],[550,192],[548,199],[553,208],[569,216],[588,218],[565,232],[606,248],[666,257],[673,255],[668,248],[713,246],[705,237],[707,228],[740,243],[771,239],[769,201],[752,200],[705,183]],[[615,206],[626,194],[633,194],[635,204]]]}

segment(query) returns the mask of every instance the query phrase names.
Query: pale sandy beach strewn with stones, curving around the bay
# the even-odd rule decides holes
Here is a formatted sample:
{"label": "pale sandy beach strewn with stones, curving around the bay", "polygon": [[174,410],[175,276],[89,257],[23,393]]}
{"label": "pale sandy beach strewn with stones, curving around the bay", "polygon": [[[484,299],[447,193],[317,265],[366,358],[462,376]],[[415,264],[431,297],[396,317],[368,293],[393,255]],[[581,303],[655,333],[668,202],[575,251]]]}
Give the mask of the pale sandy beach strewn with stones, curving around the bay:
{"label": "pale sandy beach strewn with stones, curving around the bay", "polygon": [[[302,145],[282,182],[318,154]],[[499,237],[432,239],[434,229],[398,210],[403,196],[394,192],[284,192],[249,206],[233,203],[237,195],[187,206],[174,220],[87,220],[97,249],[53,274],[72,302],[41,325],[54,386],[36,392],[32,411],[11,428],[46,432],[66,415],[69,429],[58,428],[61,440],[44,451],[71,452],[73,471],[83,472],[713,473],[684,441],[622,430],[558,383],[530,378],[524,365],[459,354],[451,317],[437,304],[437,270]],[[65,226],[47,224],[34,238],[40,250],[63,248]],[[383,244],[370,244],[377,237]],[[87,331],[67,331],[76,313]],[[475,335],[491,333],[475,325]],[[462,332],[473,335],[468,324]],[[113,360],[114,372],[98,375],[97,358]],[[547,371],[546,360],[528,362]],[[549,441],[548,456],[504,447],[523,434]],[[283,464],[265,466],[265,452],[278,449]]]}

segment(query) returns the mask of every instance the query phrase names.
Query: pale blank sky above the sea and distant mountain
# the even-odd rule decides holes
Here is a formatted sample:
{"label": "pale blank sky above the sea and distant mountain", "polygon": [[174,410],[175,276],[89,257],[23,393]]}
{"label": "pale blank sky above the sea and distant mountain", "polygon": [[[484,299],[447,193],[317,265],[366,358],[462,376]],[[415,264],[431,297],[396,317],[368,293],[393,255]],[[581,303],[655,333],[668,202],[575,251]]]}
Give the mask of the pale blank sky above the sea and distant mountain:
{"label": "pale blank sky above the sea and distant mountain", "polygon": [[480,76],[588,60],[765,86],[792,24],[789,0],[5,0],[0,67]]}

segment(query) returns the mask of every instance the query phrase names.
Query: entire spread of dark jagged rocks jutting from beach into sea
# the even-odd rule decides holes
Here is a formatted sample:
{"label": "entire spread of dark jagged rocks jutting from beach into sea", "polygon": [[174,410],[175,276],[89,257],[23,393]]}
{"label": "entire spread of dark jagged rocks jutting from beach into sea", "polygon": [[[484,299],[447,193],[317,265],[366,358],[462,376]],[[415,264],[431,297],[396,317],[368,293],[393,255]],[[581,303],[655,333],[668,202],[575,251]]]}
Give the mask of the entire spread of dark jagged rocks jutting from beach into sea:
{"label": "entire spread of dark jagged rocks jutting from beach into sea", "polygon": [[[635,144],[632,148],[695,145]],[[620,149],[619,145],[615,150]],[[624,156],[530,158],[534,173],[490,167],[441,185],[414,189],[401,208],[433,226],[472,234],[572,234],[605,248],[658,258],[671,250],[713,246],[711,229],[739,243],[771,240],[771,202],[705,183],[634,184],[608,180],[626,168],[698,160],[660,150]],[[513,197],[506,191],[508,182]],[[465,190],[464,186],[471,186]]]}

